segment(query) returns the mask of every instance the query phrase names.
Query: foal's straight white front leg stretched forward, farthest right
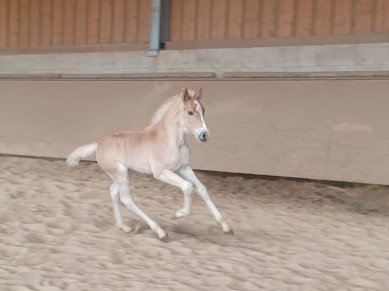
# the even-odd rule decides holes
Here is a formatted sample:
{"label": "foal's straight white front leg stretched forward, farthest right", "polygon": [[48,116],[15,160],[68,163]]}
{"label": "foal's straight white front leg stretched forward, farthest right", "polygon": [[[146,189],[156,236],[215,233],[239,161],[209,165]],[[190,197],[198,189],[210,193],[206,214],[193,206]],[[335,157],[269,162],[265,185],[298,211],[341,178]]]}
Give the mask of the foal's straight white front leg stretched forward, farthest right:
{"label": "foal's straight white front leg stretched forward, farthest right", "polygon": [[[197,178],[195,172],[193,172],[192,167],[189,164],[186,164],[185,166],[183,166],[181,169],[178,170],[178,173],[184,179],[190,181],[192,184],[195,185],[197,193],[205,201],[205,203],[207,204],[208,210],[211,212],[214,219],[220,224],[221,228],[223,229],[223,232],[226,234],[234,234],[234,232],[229,227],[229,225],[224,221],[219,210],[217,210],[215,204],[213,204],[211,198],[209,197],[207,188]],[[185,202],[184,202],[184,207],[185,207]],[[189,197],[189,207],[190,207],[190,197]]]}

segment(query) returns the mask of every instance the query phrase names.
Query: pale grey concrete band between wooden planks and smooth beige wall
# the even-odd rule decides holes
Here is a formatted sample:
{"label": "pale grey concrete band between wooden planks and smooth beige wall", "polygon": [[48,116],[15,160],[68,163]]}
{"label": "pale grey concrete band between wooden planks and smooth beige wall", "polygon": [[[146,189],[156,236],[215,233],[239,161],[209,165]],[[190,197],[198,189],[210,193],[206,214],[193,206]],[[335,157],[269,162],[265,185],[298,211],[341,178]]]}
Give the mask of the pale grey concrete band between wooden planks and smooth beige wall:
{"label": "pale grey concrete band between wooden planks and smooth beige wall", "polygon": [[0,78],[26,74],[45,74],[46,77],[52,74],[56,78],[94,78],[102,74],[113,77],[127,74],[126,78],[139,78],[142,77],[139,74],[149,74],[146,77],[150,78],[150,74],[171,77],[169,74],[184,76],[195,72],[198,77],[205,78],[241,77],[242,72],[246,74],[244,77],[268,76],[274,72],[305,76],[330,72],[345,72],[349,76],[355,72],[372,71],[387,74],[388,52],[389,41],[375,44],[163,50],[158,57],[147,57],[145,51],[0,55]]}

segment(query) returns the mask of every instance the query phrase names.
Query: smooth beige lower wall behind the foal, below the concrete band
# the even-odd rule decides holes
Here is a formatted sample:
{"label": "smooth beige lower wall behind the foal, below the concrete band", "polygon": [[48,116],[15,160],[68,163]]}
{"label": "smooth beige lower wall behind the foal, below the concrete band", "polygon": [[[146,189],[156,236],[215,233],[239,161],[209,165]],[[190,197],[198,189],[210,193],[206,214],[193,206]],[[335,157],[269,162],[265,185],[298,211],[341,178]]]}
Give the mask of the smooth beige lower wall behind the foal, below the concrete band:
{"label": "smooth beige lower wall behind the foal, below the concrete band", "polygon": [[389,80],[0,81],[0,153],[64,158],[184,86],[212,130],[197,169],[389,184]]}

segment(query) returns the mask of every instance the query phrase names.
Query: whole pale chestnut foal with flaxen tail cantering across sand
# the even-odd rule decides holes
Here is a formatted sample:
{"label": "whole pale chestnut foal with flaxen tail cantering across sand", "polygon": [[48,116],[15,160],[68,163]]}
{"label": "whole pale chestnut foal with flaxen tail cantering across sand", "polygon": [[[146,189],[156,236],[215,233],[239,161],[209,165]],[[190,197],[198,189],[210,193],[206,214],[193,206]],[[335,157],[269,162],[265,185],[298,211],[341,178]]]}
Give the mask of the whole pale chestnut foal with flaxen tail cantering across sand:
{"label": "whole pale chestnut foal with flaxen tail cantering across sand", "polygon": [[197,92],[185,88],[159,107],[151,124],[144,130],[112,132],[98,142],[82,145],[69,155],[66,162],[73,167],[81,158],[96,152],[99,166],[113,180],[110,190],[114,215],[117,227],[123,231],[130,232],[131,228],[124,225],[121,219],[119,199],[138,214],[161,241],[170,241],[166,231],[138,208],[129,193],[128,170],[135,170],[153,174],[156,179],[181,188],[184,203],[174,214],[176,218],[189,215],[190,194],[196,188],[223,232],[233,234],[210,199],[207,188],[189,165],[190,150],[185,141],[186,134],[190,132],[201,142],[210,138],[204,120],[205,110],[200,103],[202,94],[202,88]]}

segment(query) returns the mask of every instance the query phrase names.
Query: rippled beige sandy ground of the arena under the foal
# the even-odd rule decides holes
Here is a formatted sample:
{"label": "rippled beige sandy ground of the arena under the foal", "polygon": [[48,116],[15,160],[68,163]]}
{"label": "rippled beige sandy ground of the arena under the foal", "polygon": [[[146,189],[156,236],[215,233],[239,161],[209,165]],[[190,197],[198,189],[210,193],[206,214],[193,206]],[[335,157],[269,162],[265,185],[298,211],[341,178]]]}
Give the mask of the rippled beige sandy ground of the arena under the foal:
{"label": "rippled beige sandy ground of the arena under the foal", "polygon": [[132,193],[166,229],[135,214],[114,227],[95,163],[0,157],[0,290],[389,290],[388,189],[198,173],[233,227],[224,235],[193,195],[135,174]]}

